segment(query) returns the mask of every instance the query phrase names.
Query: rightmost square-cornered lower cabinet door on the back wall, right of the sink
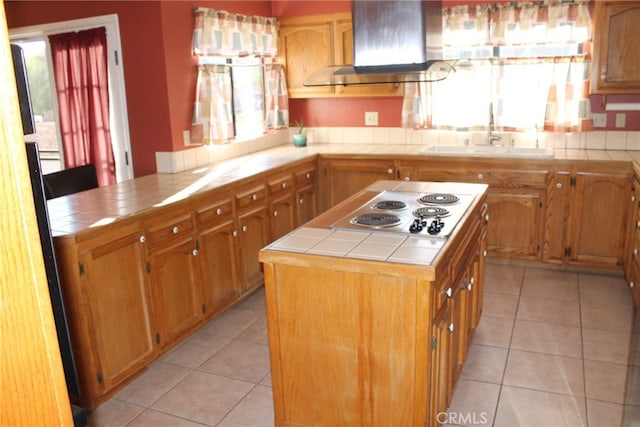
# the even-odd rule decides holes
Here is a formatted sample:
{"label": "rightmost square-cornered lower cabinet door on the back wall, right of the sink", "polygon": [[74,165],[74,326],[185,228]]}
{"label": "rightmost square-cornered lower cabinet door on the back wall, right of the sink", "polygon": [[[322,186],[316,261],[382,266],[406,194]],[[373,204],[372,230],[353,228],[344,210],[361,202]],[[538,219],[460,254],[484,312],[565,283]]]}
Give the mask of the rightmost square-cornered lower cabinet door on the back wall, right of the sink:
{"label": "rightmost square-cornered lower cabinet door on the back wall, right of the sink", "polygon": [[631,179],[578,172],[571,206],[570,262],[621,266],[624,258]]}

